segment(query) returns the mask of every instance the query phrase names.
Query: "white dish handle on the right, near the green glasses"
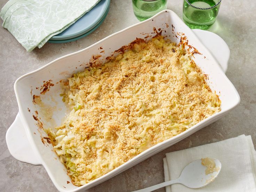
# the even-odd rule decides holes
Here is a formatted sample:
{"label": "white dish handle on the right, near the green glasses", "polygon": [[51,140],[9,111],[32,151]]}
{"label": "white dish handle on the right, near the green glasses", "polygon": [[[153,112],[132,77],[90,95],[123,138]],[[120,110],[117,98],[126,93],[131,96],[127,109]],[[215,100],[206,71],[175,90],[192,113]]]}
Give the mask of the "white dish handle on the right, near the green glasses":
{"label": "white dish handle on the right, near the green glasses", "polygon": [[230,50],[227,43],[221,37],[219,37],[219,35],[213,32],[204,31],[201,29],[192,29],[192,31],[215,57],[218,64],[221,65],[223,72],[226,73],[230,58]]}

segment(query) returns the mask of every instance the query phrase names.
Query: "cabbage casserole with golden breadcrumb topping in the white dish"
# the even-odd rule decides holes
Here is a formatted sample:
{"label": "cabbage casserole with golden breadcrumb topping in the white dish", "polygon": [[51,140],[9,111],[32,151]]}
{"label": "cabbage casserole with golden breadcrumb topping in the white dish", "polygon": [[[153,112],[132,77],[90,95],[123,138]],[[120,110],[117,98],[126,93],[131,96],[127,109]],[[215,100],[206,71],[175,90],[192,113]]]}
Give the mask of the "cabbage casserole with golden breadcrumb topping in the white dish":
{"label": "cabbage casserole with golden breadcrumb topping in the white dish", "polygon": [[49,135],[77,186],[220,110],[189,53],[162,36],[68,80],[72,110]]}

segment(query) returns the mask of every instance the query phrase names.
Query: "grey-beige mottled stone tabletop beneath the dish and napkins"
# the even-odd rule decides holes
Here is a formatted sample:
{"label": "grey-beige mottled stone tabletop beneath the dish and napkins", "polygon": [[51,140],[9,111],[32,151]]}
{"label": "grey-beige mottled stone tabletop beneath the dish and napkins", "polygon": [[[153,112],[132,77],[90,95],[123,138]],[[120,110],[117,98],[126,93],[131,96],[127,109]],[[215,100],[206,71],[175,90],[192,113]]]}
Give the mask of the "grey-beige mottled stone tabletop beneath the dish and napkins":
{"label": "grey-beige mottled stone tabletop beneath the dish and napkins", "polygon": [[[6,2],[1,0],[0,8]],[[182,0],[169,0],[168,9],[182,17],[182,3]],[[133,191],[161,183],[164,181],[162,159],[165,153],[171,151],[241,134],[251,135],[256,146],[255,9],[255,1],[223,1],[217,22],[210,29],[230,47],[231,58],[226,75],[240,94],[240,105],[217,122],[88,191]],[[60,56],[86,48],[135,23],[138,20],[133,14],[131,0],[112,0],[105,21],[89,36],[70,43],[46,43],[31,53],[27,53],[7,30],[0,27],[0,191],[57,191],[43,166],[19,162],[7,149],[5,134],[18,112],[13,89],[15,80]],[[165,189],[158,191],[163,192]]]}

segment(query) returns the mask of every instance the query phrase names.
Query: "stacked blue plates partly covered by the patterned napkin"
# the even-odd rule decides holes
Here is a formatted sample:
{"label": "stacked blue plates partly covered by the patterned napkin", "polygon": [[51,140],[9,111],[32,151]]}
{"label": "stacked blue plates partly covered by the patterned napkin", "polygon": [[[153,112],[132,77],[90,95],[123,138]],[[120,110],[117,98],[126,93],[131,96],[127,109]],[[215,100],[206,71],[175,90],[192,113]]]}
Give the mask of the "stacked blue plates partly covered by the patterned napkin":
{"label": "stacked blue plates partly covered by the patterned napkin", "polygon": [[49,39],[50,43],[66,43],[81,39],[102,24],[109,11],[110,0],[101,0],[73,25]]}

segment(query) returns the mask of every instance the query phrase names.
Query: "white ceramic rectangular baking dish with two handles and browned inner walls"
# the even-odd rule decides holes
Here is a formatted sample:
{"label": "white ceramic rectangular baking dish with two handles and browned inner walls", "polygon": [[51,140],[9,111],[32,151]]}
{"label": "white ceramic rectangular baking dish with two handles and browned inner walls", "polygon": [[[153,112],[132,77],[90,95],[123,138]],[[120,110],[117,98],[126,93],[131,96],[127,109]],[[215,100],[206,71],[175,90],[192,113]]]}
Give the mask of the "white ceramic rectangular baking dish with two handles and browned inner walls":
{"label": "white ceramic rectangular baking dish with two handles and browned inner walls", "polygon": [[[144,38],[147,33],[151,34],[153,27],[155,27],[155,29],[162,29],[162,35],[166,35],[168,39],[177,43],[180,39],[176,38],[175,34],[177,32],[184,33],[189,45],[197,48],[201,55],[194,54],[194,61],[201,68],[203,73],[208,75],[208,85],[211,90],[219,94],[219,98],[222,102],[221,111],[199,122],[183,133],[147,149],[104,176],[81,187],[74,186],[71,183],[70,177],[66,174],[66,168],[63,163],[59,161],[59,158],[55,152],[53,152],[53,147],[47,144],[46,140],[46,144],[43,144],[41,140],[42,137],[47,137],[47,135],[40,131],[36,124],[37,121],[35,121],[32,115],[40,119],[43,126],[49,126],[50,124],[45,117],[41,117],[40,114],[37,115],[35,113],[35,111],[39,109],[38,106],[33,103],[33,95],[40,95],[41,91],[37,89],[37,87],[40,88],[43,85],[43,81],[52,80],[51,82],[54,83],[54,86],[51,86],[49,91],[41,95],[41,99],[49,106],[57,106],[56,109],[61,109],[54,110],[52,116],[56,124],[60,125],[62,118],[65,116],[66,106],[62,102],[62,97],[59,96],[59,94],[63,92],[60,83],[56,84],[56,82],[69,78],[73,73],[82,71],[88,66],[91,56],[93,55],[102,55],[100,59],[104,61],[114,50],[129,44],[136,38]],[[207,47],[210,47],[212,53],[216,56],[218,62],[222,64],[222,68],[225,71],[229,59],[229,49],[226,43],[211,32],[201,30],[195,30],[193,32],[173,11],[164,10],[144,22],[114,33],[94,45],[58,58],[38,70],[23,75],[16,80],[14,85],[19,113],[6,134],[6,141],[10,153],[20,161],[33,165],[43,165],[59,191],[84,191],[106,181],[221,118],[239,104],[240,97],[230,80],[227,79],[221,66],[219,66],[215,58],[195,34],[198,34],[203,43],[206,43]],[[154,34],[152,36],[154,36]],[[102,50],[105,52],[101,53]],[[54,97],[54,100],[52,97]],[[30,109],[30,111],[28,109]],[[67,184],[67,181],[70,183]]]}

